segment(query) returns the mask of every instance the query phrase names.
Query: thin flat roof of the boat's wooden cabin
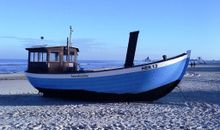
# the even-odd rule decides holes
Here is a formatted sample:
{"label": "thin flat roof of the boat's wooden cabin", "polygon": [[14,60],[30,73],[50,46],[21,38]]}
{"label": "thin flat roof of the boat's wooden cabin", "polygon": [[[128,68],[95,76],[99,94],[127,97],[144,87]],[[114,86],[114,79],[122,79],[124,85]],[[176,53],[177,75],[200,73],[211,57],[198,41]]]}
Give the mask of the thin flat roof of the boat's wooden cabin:
{"label": "thin flat roof of the boat's wooden cabin", "polygon": [[[53,49],[63,49],[66,48],[66,46],[33,46],[30,48],[26,48],[28,51],[45,51],[45,50],[53,50]],[[70,49],[76,49],[77,52],[79,52],[79,48],[77,47],[70,47]]]}

